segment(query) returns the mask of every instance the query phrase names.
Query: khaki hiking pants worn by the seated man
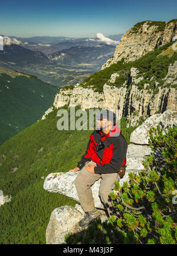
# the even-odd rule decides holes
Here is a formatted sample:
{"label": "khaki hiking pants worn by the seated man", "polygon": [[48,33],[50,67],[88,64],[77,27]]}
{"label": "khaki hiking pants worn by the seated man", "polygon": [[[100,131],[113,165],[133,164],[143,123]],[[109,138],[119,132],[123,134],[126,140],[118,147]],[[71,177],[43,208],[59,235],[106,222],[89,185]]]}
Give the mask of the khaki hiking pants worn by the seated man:
{"label": "khaki hiking pants worn by the seated man", "polygon": [[[96,163],[93,161],[86,162],[87,164]],[[99,189],[99,197],[101,203],[103,203],[104,208],[107,209],[109,216],[113,215],[113,207],[112,200],[110,199],[109,194],[113,192],[114,182],[120,180],[120,176],[118,173],[90,173],[86,170],[85,166],[78,171],[77,177],[74,180],[74,184],[76,186],[78,199],[80,204],[84,210],[84,212],[90,212],[90,210],[94,209],[94,199],[91,191],[91,185],[93,185],[97,180],[100,180],[100,189]]]}

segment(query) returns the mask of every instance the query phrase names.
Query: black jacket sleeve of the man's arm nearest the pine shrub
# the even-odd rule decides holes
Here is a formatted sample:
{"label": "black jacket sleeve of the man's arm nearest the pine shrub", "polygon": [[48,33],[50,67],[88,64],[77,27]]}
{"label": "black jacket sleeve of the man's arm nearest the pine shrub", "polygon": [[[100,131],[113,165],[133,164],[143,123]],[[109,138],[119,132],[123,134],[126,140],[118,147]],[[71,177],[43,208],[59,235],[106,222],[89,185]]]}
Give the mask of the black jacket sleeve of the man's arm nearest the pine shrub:
{"label": "black jacket sleeve of the man's arm nearest the pine shrub", "polygon": [[114,144],[113,156],[110,160],[110,164],[100,164],[94,167],[94,173],[117,173],[123,164],[124,158],[127,153],[127,141],[124,137],[120,137]]}

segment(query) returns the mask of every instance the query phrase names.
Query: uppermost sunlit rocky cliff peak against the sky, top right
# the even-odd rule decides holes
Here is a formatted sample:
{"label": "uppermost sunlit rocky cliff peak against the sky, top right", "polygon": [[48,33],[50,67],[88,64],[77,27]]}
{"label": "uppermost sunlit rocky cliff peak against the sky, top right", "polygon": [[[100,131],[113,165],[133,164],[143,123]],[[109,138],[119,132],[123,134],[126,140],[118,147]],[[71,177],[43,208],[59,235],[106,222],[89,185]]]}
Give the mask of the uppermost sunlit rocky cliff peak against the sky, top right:
{"label": "uppermost sunlit rocky cliff peak against the sky, top right", "polygon": [[123,34],[113,57],[101,69],[111,66],[124,58],[129,62],[159,48],[177,35],[177,20],[169,22],[144,21],[137,23]]}

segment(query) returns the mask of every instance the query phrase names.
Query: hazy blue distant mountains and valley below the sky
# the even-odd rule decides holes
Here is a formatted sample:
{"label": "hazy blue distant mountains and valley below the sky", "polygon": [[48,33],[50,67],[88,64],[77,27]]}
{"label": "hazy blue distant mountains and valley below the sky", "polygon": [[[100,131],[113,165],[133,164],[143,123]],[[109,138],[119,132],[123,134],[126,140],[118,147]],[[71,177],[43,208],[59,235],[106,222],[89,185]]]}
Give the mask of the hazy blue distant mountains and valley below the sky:
{"label": "hazy blue distant mountains and valley below the sky", "polygon": [[0,51],[0,67],[38,76],[44,82],[60,87],[76,85],[99,71],[113,56],[116,47],[100,43],[96,38],[60,37],[57,38],[59,43],[48,46],[45,44],[56,38],[28,38],[32,44],[26,41],[27,38],[16,38],[19,41],[12,38],[8,38],[9,45]]}

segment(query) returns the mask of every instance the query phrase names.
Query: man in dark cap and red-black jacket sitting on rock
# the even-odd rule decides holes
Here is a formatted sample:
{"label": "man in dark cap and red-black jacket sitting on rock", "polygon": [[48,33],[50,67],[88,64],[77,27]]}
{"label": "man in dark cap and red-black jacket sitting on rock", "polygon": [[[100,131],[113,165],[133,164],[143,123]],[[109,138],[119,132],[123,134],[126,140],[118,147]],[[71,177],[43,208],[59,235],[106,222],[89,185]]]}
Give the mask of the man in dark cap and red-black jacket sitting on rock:
{"label": "man in dark cap and red-black jacket sitting on rock", "polygon": [[90,135],[86,153],[77,167],[70,171],[79,171],[74,184],[78,199],[85,212],[79,226],[84,228],[101,213],[94,207],[91,186],[99,179],[99,197],[109,216],[112,215],[112,203],[109,194],[113,192],[114,182],[124,175],[126,165],[127,141],[116,125],[116,114],[103,109],[96,116],[96,130]]}

